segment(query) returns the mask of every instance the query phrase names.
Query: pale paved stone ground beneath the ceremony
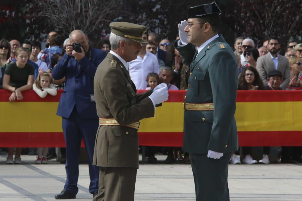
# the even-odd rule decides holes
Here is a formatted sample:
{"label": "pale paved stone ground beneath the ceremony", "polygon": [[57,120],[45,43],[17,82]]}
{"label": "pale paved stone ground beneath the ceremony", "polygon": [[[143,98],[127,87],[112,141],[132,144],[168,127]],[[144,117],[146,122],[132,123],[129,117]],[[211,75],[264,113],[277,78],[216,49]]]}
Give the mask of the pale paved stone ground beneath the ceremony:
{"label": "pale paved stone ground beneath the ceremony", "polygon": [[[50,201],[63,189],[65,166],[55,160],[34,164],[36,156],[21,155],[23,164],[6,165],[0,153],[0,201]],[[159,160],[165,156],[157,155]],[[81,164],[78,201],[92,200],[88,193],[88,165]],[[302,200],[302,166],[287,164],[230,165],[229,189],[233,201]],[[145,164],[137,172],[135,201],[195,200],[191,166]]]}

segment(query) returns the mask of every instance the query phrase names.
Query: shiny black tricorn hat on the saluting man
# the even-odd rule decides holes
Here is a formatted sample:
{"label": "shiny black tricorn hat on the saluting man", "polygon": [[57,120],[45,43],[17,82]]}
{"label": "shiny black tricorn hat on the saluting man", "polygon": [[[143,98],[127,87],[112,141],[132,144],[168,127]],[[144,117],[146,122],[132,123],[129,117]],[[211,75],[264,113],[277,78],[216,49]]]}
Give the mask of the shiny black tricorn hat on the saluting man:
{"label": "shiny black tricorn hat on the saluting man", "polygon": [[221,14],[221,11],[218,8],[216,2],[188,8],[188,18],[198,18],[210,14],[215,14],[215,15]]}

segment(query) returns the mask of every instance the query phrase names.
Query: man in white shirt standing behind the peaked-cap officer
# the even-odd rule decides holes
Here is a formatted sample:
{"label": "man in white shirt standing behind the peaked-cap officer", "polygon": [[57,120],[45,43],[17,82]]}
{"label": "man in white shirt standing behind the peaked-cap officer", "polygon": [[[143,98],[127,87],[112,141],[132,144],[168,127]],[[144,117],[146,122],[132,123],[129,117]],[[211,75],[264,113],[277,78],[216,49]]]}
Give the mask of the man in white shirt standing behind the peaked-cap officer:
{"label": "man in white shirt standing behind the peaked-cap officer", "polygon": [[[143,34],[143,40],[147,42],[148,33]],[[149,73],[159,74],[159,64],[157,57],[149,51],[146,51],[146,44],[141,44],[142,49],[137,59],[128,62],[129,74],[137,89],[145,90],[147,88],[146,77]]]}

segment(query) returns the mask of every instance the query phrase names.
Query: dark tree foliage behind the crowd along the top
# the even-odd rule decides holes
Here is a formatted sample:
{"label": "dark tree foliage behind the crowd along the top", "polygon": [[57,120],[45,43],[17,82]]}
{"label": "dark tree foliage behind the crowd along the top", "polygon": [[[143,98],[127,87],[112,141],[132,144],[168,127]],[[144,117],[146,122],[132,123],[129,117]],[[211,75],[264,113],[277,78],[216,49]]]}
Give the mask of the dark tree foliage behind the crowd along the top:
{"label": "dark tree foliage behind the crowd along the top", "polygon": [[[39,39],[57,31],[68,37],[82,29],[92,44],[110,33],[112,21],[143,24],[149,32],[173,41],[177,24],[187,19],[186,8],[211,0],[2,0],[0,36],[6,39]],[[271,35],[285,48],[290,37],[302,35],[301,0],[217,0],[222,10],[223,34],[233,46],[238,36],[249,37],[258,46]],[[300,39],[298,38],[298,39]]]}

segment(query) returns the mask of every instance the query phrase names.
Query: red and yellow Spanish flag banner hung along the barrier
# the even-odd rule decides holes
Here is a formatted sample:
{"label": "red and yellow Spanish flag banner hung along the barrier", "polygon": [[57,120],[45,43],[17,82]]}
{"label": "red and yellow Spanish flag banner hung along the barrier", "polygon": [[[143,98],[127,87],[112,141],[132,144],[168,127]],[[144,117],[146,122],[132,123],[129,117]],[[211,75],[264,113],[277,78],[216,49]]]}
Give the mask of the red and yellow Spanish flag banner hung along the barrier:
{"label": "red and yellow Spanish flag banner hung along the barrier", "polygon": [[[0,90],[0,146],[64,147],[56,115],[62,91],[42,99],[28,90],[22,101],[10,103],[11,92]],[[169,91],[155,117],[141,120],[140,145],[182,146],[185,93]],[[235,118],[239,146],[302,146],[302,91],[237,91]]]}

